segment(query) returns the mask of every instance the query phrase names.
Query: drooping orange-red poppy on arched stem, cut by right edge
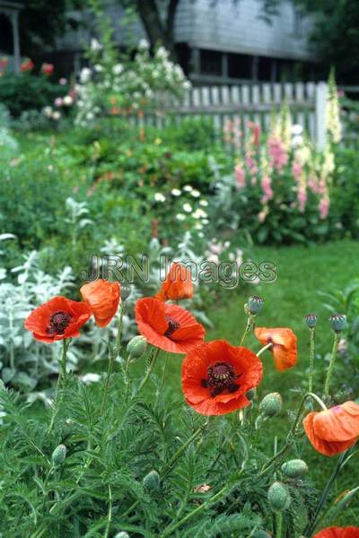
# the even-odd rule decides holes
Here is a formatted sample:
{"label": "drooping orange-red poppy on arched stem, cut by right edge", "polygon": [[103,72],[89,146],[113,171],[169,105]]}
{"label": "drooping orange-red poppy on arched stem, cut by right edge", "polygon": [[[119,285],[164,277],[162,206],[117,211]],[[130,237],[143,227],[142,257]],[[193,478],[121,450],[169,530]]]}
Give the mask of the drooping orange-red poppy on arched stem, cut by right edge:
{"label": "drooping orange-red poppy on arched stem, cut by right edge", "polygon": [[352,447],[359,437],[359,405],[346,402],[331,409],[310,412],[302,421],[311,445],[324,456]]}

